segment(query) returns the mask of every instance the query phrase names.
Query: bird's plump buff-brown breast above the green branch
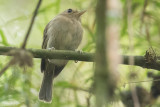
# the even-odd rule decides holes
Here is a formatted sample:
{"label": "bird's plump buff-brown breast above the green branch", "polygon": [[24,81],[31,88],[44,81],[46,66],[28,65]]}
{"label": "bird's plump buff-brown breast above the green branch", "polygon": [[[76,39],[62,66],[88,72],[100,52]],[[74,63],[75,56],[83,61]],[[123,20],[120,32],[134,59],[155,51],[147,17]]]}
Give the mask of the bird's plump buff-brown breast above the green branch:
{"label": "bird's plump buff-brown breast above the green branch", "polygon": [[82,40],[82,27],[79,21],[63,20],[53,23],[50,39],[53,47],[59,50],[75,50]]}

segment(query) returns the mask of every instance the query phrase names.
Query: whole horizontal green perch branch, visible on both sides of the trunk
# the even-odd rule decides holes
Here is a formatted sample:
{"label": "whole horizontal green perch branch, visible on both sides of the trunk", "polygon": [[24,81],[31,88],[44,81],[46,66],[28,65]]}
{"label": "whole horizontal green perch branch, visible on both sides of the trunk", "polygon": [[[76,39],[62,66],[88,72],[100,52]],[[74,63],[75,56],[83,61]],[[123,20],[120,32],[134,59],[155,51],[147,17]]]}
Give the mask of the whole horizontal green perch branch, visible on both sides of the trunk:
{"label": "whole horizontal green perch branch, visible on both sides of the trunk", "polygon": [[[0,46],[0,55],[11,56],[8,54],[12,49],[19,49],[15,47]],[[78,60],[86,62],[94,62],[94,53],[79,52],[79,51],[66,51],[66,50],[47,50],[47,49],[26,49],[33,54],[34,58],[50,58],[50,59],[66,59],[66,60]],[[129,65],[129,57],[122,55],[123,62],[121,64]],[[157,56],[159,58],[159,56]],[[133,56],[134,65],[142,68],[149,68],[160,70],[159,59],[157,62],[147,63],[148,61],[144,56]]]}

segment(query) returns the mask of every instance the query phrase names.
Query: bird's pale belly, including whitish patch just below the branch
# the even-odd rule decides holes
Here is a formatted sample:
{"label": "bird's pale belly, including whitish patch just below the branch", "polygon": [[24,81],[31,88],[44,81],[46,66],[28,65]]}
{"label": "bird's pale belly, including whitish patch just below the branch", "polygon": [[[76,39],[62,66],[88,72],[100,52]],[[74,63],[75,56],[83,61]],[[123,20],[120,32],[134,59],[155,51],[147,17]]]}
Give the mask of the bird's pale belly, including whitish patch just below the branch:
{"label": "bird's pale belly, including whitish patch just below the branch", "polygon": [[[58,27],[58,26],[57,26]],[[56,50],[75,50],[78,48],[81,40],[83,30],[80,25],[72,24],[72,27],[60,26],[59,28],[53,26],[48,31],[49,41],[47,48],[54,47]],[[53,33],[54,32],[54,33]],[[65,65],[68,60],[49,59],[49,62],[55,65]]]}

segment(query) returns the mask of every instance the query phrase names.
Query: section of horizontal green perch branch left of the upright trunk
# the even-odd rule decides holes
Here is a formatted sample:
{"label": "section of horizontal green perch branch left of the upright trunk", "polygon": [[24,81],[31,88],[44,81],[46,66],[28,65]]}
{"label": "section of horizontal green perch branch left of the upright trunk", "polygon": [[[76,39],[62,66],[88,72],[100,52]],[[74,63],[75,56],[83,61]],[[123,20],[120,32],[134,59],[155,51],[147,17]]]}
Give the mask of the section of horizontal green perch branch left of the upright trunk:
{"label": "section of horizontal green perch branch left of the upright trunk", "polygon": [[[11,56],[8,54],[12,49],[19,49],[15,47],[0,46],[0,55]],[[66,51],[66,50],[48,50],[48,49],[26,49],[32,53],[34,58],[48,58],[48,59],[66,59],[78,61],[94,61],[94,53]]]}

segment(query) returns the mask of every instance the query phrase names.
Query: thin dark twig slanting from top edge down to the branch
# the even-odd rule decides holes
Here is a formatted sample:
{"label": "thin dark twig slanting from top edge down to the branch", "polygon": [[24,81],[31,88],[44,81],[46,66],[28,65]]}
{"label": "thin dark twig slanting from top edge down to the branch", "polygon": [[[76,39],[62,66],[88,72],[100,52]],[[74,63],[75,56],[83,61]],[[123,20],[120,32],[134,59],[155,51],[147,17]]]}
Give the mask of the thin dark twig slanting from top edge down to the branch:
{"label": "thin dark twig slanting from top edge down to the branch", "polygon": [[24,38],[24,42],[23,42],[23,44],[22,44],[22,46],[21,46],[22,49],[25,49],[25,47],[26,47],[27,40],[28,40],[28,37],[29,37],[30,32],[31,32],[31,30],[32,30],[32,26],[33,26],[34,20],[35,20],[35,18],[36,18],[36,15],[37,15],[37,13],[38,13],[38,9],[39,9],[39,7],[40,7],[40,5],[41,5],[41,2],[42,2],[42,0],[39,0],[38,4],[37,4],[37,6],[36,6],[36,9],[35,9],[35,11],[34,11],[33,17],[32,17],[32,19],[31,19],[30,26],[29,26],[28,31],[27,31],[27,33],[26,33],[26,36],[25,36],[25,38]]}

